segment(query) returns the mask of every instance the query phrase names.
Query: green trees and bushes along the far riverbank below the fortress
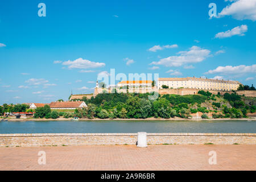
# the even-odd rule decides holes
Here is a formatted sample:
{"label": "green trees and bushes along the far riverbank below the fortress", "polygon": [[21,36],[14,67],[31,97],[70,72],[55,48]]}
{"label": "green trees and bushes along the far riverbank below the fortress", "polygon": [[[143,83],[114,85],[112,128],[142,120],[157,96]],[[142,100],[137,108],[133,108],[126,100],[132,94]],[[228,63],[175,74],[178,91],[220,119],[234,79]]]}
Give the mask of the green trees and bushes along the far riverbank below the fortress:
{"label": "green trees and bushes along the far riverbank below the fortress", "polygon": [[[220,93],[214,95],[203,90],[197,95],[179,96],[166,94],[156,100],[148,96],[156,93],[102,93],[95,98],[83,97],[88,105],[84,109],[73,111],[51,110],[48,105],[35,109],[35,118],[191,118],[193,114],[201,113],[201,118],[243,118],[248,112],[256,110],[255,98]],[[251,101],[250,101],[251,100]],[[251,104],[253,103],[253,104]],[[3,112],[28,111],[27,105],[4,105]]]}

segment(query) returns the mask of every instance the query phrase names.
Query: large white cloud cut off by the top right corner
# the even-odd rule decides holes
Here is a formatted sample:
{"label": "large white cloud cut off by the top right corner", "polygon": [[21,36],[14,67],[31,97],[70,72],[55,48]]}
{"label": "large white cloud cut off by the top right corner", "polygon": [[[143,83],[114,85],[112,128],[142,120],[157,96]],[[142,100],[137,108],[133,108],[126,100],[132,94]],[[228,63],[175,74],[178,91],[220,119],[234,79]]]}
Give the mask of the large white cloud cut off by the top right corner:
{"label": "large white cloud cut off by the top right corner", "polygon": [[231,15],[237,20],[256,20],[256,0],[238,0],[230,2],[233,3],[226,6],[221,13],[218,13],[218,17]]}

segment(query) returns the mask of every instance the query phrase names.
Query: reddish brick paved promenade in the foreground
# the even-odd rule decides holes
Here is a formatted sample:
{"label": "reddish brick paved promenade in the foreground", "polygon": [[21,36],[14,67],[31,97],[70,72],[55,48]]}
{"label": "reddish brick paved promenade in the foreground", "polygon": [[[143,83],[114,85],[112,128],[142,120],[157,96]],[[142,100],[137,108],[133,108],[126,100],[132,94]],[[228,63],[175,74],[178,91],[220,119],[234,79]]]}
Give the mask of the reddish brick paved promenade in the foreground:
{"label": "reddish brick paved promenade in the foreground", "polygon": [[[208,163],[209,151],[217,165]],[[0,170],[256,170],[255,156],[256,145],[2,147]]]}

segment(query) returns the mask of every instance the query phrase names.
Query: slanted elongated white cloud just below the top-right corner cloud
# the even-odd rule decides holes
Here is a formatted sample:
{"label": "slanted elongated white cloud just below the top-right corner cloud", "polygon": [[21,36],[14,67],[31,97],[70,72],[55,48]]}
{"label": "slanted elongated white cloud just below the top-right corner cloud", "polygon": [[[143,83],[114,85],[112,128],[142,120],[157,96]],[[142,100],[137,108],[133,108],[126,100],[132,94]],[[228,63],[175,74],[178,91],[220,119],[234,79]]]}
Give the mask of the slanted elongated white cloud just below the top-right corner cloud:
{"label": "slanted elongated white cloud just below the top-right corner cloud", "polygon": [[245,32],[247,32],[248,28],[246,24],[242,24],[241,26],[237,26],[232,28],[232,30],[228,30],[225,32],[219,32],[218,34],[215,35],[215,38],[230,38],[231,36],[234,35],[239,35],[243,36]]}

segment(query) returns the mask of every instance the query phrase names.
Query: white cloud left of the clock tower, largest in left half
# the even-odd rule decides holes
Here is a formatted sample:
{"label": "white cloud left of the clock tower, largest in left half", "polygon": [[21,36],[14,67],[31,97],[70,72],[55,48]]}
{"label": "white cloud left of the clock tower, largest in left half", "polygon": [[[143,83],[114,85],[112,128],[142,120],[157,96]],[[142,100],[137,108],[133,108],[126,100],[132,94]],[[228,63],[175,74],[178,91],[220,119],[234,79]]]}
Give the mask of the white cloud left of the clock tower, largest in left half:
{"label": "white cloud left of the clock tower, largest in left half", "polygon": [[88,68],[105,67],[106,64],[105,63],[96,63],[93,61],[79,58],[74,61],[71,61],[71,60],[64,61],[63,65],[68,65],[69,69],[72,69],[72,68],[88,69]]}

